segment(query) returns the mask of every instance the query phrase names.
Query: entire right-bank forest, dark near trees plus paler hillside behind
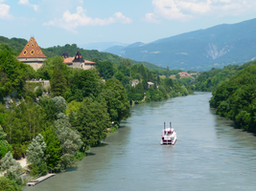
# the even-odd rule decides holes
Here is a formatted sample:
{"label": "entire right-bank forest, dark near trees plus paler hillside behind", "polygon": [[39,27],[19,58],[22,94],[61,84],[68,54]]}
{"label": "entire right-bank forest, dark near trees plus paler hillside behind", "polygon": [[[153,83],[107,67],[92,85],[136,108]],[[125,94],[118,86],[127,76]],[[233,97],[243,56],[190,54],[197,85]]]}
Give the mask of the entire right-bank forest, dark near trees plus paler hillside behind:
{"label": "entire right-bank forest, dark near trees plus paler hillside behind", "polygon": [[234,120],[238,128],[255,132],[255,79],[256,61],[250,61],[200,73],[195,89],[212,92],[210,107],[216,108],[218,115]]}

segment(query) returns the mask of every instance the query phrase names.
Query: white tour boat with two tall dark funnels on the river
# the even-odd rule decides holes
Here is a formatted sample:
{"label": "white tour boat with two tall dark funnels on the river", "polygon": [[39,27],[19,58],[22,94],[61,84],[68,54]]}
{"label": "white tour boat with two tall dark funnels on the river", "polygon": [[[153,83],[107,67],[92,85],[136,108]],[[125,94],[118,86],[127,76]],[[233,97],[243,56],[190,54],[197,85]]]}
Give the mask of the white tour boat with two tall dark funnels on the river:
{"label": "white tour boat with two tall dark funnels on the river", "polygon": [[163,134],[161,137],[161,145],[163,144],[175,145],[175,142],[176,142],[176,132],[175,132],[175,129],[172,128],[172,123],[170,122],[169,128],[166,128],[164,123]]}

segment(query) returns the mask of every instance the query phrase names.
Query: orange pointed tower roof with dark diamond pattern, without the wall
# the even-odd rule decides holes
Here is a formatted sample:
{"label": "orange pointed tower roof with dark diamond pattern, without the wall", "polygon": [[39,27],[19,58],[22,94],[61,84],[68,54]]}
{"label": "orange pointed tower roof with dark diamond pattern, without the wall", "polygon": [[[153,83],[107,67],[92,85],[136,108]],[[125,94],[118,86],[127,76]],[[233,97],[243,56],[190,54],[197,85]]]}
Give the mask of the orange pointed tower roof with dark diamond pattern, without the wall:
{"label": "orange pointed tower roof with dark diamond pattern, without the wall", "polygon": [[23,51],[17,56],[17,58],[47,58],[41,51],[34,37],[31,37],[29,42],[24,47]]}

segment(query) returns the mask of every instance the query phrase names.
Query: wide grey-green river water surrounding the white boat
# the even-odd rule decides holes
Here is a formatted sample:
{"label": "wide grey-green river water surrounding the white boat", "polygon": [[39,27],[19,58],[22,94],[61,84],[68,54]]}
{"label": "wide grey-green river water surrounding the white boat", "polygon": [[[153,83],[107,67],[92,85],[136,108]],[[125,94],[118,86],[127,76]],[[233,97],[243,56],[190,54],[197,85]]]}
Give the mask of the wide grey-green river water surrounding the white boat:
{"label": "wide grey-green river water surrounding the white boat", "polygon": [[[256,190],[256,138],[209,108],[210,93],[136,105],[78,168],[24,190]],[[175,146],[160,145],[173,122]]]}

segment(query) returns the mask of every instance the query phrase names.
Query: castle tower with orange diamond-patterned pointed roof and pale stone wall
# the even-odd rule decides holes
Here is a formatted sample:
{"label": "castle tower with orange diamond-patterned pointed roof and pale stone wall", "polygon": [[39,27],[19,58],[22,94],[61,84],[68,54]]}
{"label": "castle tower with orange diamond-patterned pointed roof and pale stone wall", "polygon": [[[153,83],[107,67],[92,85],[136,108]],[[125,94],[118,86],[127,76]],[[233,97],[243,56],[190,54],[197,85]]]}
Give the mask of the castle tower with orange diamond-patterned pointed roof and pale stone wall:
{"label": "castle tower with orange diamond-patterned pointed roof and pale stone wall", "polygon": [[32,66],[35,71],[42,66],[43,61],[46,58],[47,57],[42,53],[34,37],[31,37],[23,51],[19,54],[19,56],[17,56],[19,61]]}

